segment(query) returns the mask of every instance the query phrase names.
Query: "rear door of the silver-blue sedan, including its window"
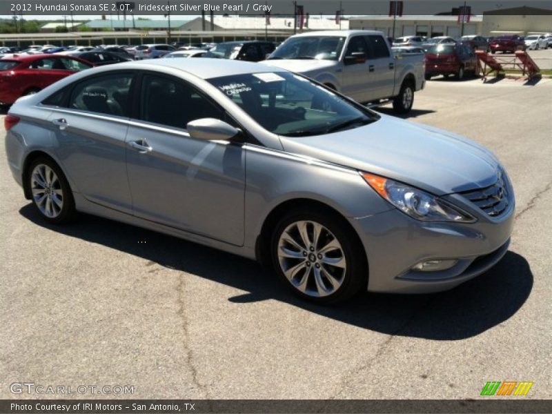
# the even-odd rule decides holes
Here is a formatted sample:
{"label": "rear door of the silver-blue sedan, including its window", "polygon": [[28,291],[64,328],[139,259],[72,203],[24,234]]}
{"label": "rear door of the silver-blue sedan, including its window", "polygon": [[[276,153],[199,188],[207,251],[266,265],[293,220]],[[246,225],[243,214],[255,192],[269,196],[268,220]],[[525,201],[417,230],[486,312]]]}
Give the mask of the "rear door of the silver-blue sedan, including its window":
{"label": "rear door of the silver-blue sedan, including its window", "polygon": [[52,97],[48,117],[57,156],[78,193],[101,206],[132,213],[126,176],[125,137],[133,73],[87,77]]}

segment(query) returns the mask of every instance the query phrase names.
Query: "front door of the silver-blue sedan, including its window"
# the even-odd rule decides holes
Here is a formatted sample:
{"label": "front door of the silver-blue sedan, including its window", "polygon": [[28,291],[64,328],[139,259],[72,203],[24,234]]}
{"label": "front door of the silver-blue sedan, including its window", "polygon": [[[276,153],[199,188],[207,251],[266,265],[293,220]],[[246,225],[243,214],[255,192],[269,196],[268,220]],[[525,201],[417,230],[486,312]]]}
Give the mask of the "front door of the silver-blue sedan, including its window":
{"label": "front door of the silver-blue sedan, including its window", "polygon": [[137,217],[241,246],[245,152],[241,144],[193,139],[193,119],[225,119],[195,86],[146,72],[126,159]]}

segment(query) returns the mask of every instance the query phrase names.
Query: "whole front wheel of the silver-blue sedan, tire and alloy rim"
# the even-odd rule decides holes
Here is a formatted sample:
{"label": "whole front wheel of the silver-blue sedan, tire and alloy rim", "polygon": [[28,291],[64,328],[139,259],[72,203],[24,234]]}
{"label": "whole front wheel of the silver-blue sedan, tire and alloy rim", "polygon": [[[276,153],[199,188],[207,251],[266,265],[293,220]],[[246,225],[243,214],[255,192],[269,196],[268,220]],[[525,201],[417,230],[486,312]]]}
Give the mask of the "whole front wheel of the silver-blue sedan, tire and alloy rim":
{"label": "whole front wheel of the silver-blue sedan, tire and alloy rim", "polygon": [[279,221],[270,244],[273,266],[295,295],[331,304],[366,288],[364,252],[346,227],[312,210],[296,210]]}

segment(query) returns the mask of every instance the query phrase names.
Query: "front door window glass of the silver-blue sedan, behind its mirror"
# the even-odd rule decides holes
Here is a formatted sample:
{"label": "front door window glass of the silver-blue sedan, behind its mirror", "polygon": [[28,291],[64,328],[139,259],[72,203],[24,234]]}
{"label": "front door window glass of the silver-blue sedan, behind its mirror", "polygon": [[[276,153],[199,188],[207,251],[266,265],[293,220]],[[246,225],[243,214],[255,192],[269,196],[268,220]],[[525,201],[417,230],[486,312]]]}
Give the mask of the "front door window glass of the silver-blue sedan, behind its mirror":
{"label": "front door window glass of the silver-blue sedan, behind its mirror", "polygon": [[184,81],[144,75],[140,118],[165,126],[186,129],[194,119],[224,119],[224,112]]}

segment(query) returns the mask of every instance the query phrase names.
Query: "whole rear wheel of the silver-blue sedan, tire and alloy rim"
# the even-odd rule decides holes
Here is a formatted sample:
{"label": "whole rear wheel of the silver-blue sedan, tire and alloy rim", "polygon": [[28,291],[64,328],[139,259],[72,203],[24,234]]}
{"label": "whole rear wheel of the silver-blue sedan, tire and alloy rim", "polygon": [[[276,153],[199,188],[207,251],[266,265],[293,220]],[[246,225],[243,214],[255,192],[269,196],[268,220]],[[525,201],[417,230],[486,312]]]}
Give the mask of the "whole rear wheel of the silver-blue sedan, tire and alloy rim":
{"label": "whole rear wheel of the silver-blue sedan, tire and alloy rim", "polygon": [[41,217],[53,224],[71,221],[76,214],[75,200],[59,166],[51,159],[40,157],[32,161],[28,171],[32,203]]}

